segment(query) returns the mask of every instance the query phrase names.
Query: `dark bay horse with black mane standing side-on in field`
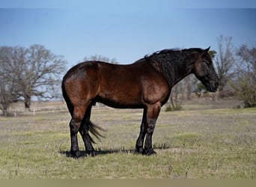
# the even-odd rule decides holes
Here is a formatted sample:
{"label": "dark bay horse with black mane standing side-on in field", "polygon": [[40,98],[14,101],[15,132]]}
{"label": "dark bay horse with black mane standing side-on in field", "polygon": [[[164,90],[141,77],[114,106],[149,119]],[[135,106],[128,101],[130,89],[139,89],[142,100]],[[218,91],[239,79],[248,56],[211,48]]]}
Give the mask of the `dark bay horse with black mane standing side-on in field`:
{"label": "dark bay horse with black mane standing side-on in field", "polygon": [[145,55],[132,64],[85,61],[68,70],[61,88],[71,115],[71,156],[82,156],[78,132],[82,135],[86,155],[97,154],[91,134],[100,139],[103,135],[99,130],[103,128],[90,120],[91,108],[96,102],[113,108],[143,108],[135,153],[147,156],[156,154],[152,147],[152,135],[171,88],[193,73],[208,91],[216,92],[219,78],[209,49],[163,49]]}

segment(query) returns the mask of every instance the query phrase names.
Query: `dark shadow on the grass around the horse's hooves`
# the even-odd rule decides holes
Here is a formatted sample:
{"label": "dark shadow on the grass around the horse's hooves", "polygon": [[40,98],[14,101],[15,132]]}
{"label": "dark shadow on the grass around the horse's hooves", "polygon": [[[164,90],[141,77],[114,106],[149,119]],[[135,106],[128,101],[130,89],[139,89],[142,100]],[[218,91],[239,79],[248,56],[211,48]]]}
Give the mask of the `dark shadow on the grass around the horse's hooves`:
{"label": "dark shadow on the grass around the horse's hooves", "polygon": [[[168,147],[165,144],[160,144],[160,145],[157,145],[157,146],[153,146],[153,149],[156,149],[156,150],[166,150],[166,149],[169,149],[169,148],[171,148],[171,147]],[[58,153],[60,153],[62,155],[65,155],[69,158],[74,158],[74,156],[70,153],[69,150],[59,150]],[[91,156],[85,150],[80,150],[80,153],[81,153],[81,157]],[[113,154],[113,153],[132,153],[132,154],[140,155],[140,153],[137,153],[135,151],[135,149],[125,149],[124,147],[122,149],[109,149],[109,150],[101,150],[100,148],[96,149],[96,156]]]}

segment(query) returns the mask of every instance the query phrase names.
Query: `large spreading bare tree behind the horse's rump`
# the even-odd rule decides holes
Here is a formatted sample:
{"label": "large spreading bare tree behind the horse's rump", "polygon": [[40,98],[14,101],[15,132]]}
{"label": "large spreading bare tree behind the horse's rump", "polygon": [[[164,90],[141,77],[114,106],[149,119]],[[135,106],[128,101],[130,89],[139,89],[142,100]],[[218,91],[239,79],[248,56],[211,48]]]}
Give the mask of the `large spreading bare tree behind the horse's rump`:
{"label": "large spreading bare tree behind the horse's rump", "polygon": [[25,108],[31,105],[31,96],[53,99],[58,93],[61,74],[64,73],[66,61],[41,45],[28,49],[15,46],[1,54],[6,64],[5,72],[15,82],[16,96],[23,99]]}

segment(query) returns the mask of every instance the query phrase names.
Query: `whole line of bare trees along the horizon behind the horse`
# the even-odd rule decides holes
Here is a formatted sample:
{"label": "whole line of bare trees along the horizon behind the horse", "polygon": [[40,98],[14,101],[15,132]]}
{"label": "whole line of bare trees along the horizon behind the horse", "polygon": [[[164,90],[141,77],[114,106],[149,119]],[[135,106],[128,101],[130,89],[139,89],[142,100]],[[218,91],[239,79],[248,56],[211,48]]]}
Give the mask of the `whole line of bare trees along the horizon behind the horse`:
{"label": "whole line of bare trees along the horizon behind the horse", "polygon": [[[219,36],[218,49],[210,51],[219,76],[218,96],[237,96],[245,107],[256,106],[256,47],[235,48],[232,37]],[[115,58],[92,55],[84,61],[107,61]],[[7,112],[10,103],[22,100],[27,110],[32,96],[39,99],[61,98],[61,79],[66,72],[64,56],[55,55],[44,46],[0,46],[0,109]],[[118,78],[117,78],[118,79]],[[207,92],[194,76],[187,76],[172,90],[171,109],[180,108],[191,94]],[[6,114],[4,114],[6,115]]]}

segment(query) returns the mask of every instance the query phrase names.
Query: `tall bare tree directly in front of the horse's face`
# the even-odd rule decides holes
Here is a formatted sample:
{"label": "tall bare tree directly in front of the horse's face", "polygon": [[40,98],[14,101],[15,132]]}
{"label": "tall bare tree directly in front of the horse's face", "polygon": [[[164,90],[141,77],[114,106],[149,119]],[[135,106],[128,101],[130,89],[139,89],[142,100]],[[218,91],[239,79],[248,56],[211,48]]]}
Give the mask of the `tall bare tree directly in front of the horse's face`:
{"label": "tall bare tree directly in front of the horse's face", "polygon": [[216,64],[216,71],[219,76],[219,91],[225,88],[225,85],[234,76],[234,55],[232,37],[219,36],[218,52],[215,55],[214,61]]}

